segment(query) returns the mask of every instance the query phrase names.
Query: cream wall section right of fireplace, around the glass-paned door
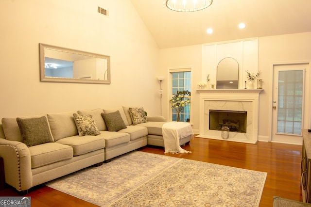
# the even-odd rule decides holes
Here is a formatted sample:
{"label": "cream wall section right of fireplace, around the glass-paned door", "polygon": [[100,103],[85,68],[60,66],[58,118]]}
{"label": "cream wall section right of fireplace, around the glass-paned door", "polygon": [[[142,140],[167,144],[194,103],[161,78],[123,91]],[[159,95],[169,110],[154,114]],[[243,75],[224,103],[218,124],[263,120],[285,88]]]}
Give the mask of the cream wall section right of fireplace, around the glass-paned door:
{"label": "cream wall section right of fireplace, around the glass-paned door", "polygon": [[[263,80],[263,92],[260,93],[259,102],[259,137],[261,140],[270,141],[271,114],[272,114],[272,65],[280,63],[311,62],[311,32],[277,35],[259,38],[259,70]],[[306,76],[309,77],[307,71]],[[310,82],[307,82],[305,92],[307,100],[310,100]],[[309,123],[305,127],[310,128],[310,103],[305,105],[305,116]],[[307,125],[307,126],[306,126]]]}

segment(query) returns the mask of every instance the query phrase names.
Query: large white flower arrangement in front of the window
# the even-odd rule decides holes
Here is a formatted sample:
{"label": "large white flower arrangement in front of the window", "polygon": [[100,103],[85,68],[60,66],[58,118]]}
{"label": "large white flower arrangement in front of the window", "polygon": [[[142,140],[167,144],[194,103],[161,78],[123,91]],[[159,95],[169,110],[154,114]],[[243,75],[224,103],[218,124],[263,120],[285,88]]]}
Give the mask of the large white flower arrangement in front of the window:
{"label": "large white flower arrangement in front of the window", "polygon": [[190,105],[190,96],[190,91],[177,91],[177,94],[170,99],[172,109],[175,109],[177,113],[177,122],[179,122],[179,114],[183,110],[183,108]]}

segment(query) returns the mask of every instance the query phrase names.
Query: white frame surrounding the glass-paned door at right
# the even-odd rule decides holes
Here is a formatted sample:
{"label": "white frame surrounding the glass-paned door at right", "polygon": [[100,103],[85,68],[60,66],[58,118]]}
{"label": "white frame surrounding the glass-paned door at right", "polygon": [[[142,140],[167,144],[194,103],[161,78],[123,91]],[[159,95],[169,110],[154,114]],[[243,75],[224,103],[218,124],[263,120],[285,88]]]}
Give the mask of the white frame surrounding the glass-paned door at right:
{"label": "white frame surrounding the glass-paned door at right", "polygon": [[[309,64],[309,66],[306,68],[305,72],[305,104],[304,104],[304,120],[303,120],[303,126],[302,128],[311,128],[311,61],[288,61],[288,62],[275,62],[272,63],[270,66],[270,97],[269,97],[269,116],[270,116],[270,121],[269,121],[269,139],[268,142],[273,142],[272,141],[272,122],[273,122],[273,93],[274,93],[274,88],[273,88],[273,73],[274,73],[274,66],[275,65],[280,65],[280,64]],[[292,143],[291,143],[292,144]]]}

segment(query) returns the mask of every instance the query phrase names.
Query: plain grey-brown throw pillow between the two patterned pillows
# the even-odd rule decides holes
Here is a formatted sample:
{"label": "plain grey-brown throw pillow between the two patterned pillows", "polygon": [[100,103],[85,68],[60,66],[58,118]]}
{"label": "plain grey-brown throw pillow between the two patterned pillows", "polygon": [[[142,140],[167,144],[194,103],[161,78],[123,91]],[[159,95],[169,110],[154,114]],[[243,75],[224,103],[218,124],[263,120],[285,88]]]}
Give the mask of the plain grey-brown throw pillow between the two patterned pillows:
{"label": "plain grey-brown throw pillow between the two patterned pillows", "polygon": [[108,131],[119,131],[122,128],[127,128],[121,117],[120,111],[102,113],[102,117],[106,123]]}

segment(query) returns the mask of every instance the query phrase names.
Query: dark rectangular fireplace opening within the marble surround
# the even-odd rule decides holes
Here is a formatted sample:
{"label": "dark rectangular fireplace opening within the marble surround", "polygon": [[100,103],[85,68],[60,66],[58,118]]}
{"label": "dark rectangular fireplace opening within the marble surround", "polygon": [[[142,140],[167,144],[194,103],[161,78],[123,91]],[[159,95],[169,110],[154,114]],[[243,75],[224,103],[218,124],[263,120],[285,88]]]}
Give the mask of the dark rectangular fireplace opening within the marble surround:
{"label": "dark rectangular fireplace opening within the marble surround", "polygon": [[230,131],[246,133],[247,111],[209,110],[209,130],[221,130],[229,127]]}

